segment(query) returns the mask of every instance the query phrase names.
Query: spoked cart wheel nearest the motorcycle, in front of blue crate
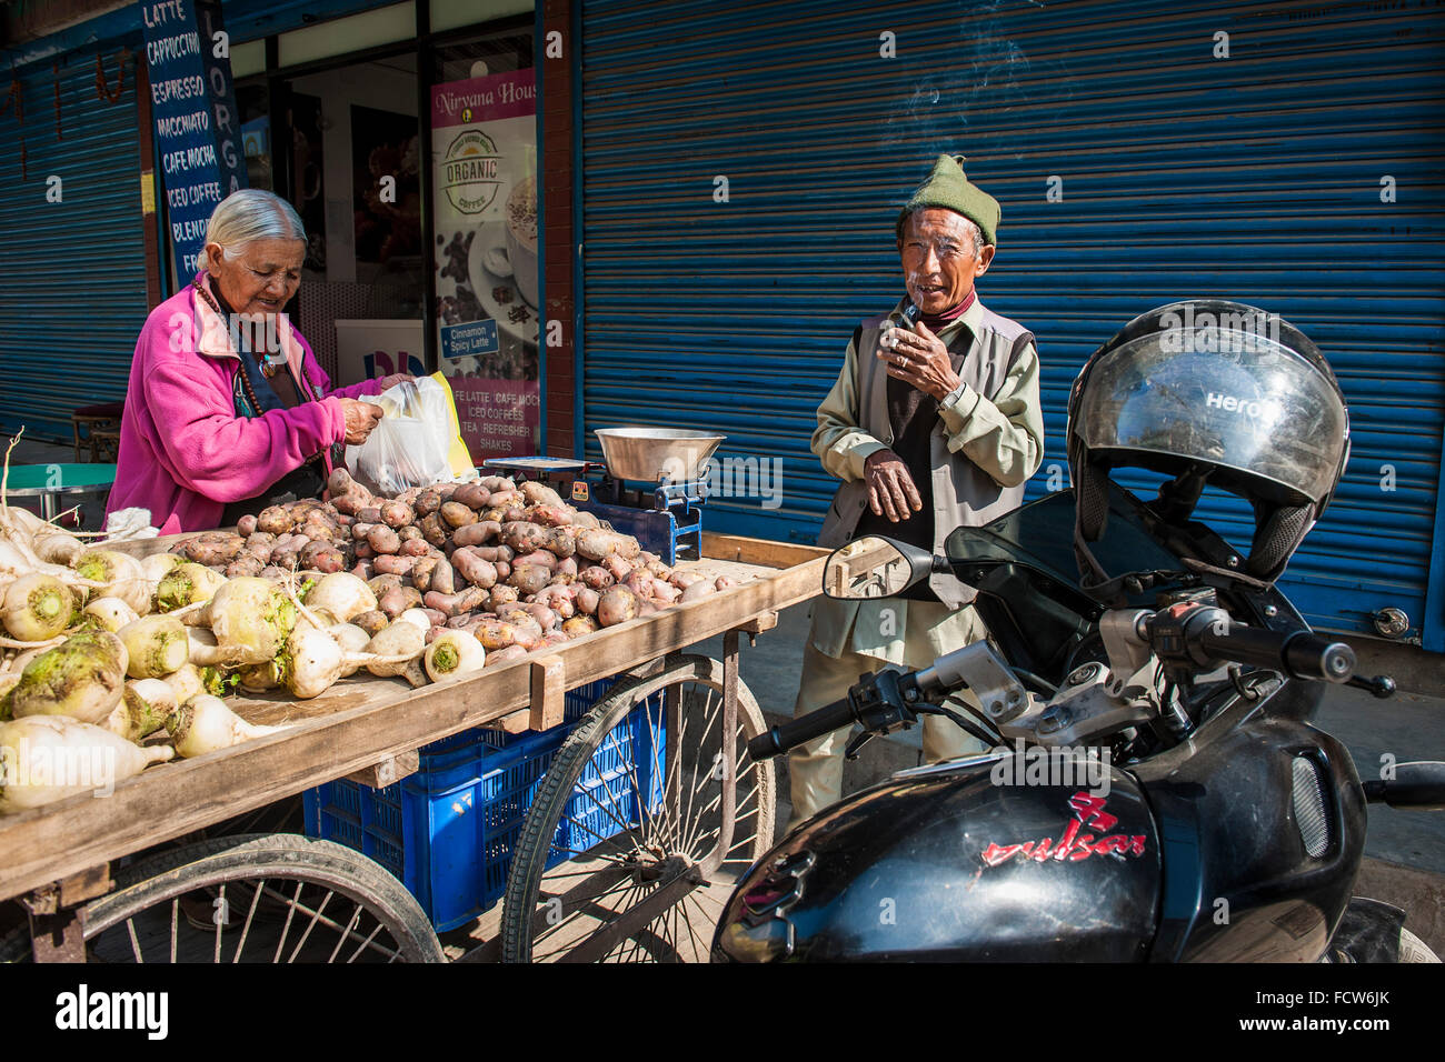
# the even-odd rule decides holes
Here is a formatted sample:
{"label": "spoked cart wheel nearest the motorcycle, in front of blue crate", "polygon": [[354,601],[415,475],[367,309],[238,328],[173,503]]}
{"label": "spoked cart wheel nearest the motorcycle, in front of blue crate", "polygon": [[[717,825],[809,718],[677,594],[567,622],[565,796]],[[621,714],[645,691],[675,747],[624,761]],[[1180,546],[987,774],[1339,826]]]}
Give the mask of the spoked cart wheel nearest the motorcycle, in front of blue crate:
{"label": "spoked cart wheel nearest the motorcycle, in front of blue crate", "polygon": [[733,883],[773,842],[775,773],[747,740],[763,712],[722,665],[670,656],[577,725],[522,826],[501,919],[506,962],[707,961]]}

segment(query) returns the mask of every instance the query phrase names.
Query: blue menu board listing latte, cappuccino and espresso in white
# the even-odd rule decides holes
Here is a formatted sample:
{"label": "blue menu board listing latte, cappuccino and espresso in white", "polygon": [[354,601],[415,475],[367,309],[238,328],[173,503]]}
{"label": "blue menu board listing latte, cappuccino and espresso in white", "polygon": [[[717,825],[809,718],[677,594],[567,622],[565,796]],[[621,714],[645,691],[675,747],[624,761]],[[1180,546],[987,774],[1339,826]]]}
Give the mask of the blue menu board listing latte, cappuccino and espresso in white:
{"label": "blue menu board listing latte, cappuccino and espresso in white", "polygon": [[156,152],[178,283],[189,283],[215,205],[246,188],[230,42],[217,0],[142,0]]}

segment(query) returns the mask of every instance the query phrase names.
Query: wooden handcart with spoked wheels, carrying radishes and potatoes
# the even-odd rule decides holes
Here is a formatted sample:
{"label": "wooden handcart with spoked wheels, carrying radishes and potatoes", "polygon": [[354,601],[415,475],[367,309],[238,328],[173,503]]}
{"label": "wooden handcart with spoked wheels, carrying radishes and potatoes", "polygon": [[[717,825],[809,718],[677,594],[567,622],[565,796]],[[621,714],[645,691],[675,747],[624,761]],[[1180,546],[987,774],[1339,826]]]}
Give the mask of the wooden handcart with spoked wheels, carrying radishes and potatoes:
{"label": "wooden handcart with spoked wheels, carrying radishes and potatoes", "polygon": [[[616,682],[527,789],[497,933],[462,958],[705,959],[730,883],[773,835],[738,637],[819,594],[827,551],[704,533],[702,555],[682,566],[737,585],[449,683],[234,698],[285,730],[0,819],[0,899],[26,912],[0,959],[441,961],[420,906],[358,851],[295,832],[194,838],[335,779],[387,786],[470,728],[551,730],[566,692],[598,679]],[[720,660],[686,652],[717,636]]]}

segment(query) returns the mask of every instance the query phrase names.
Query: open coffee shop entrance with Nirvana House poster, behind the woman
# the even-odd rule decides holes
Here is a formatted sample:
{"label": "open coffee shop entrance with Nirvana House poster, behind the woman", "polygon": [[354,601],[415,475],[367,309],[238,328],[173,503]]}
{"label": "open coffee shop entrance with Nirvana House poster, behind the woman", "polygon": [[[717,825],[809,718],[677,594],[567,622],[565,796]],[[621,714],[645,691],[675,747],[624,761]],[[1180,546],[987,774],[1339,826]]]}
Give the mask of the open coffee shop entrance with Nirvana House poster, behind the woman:
{"label": "open coffee shop entrance with Nirvana House poster, behind the woman", "polygon": [[530,20],[237,84],[253,188],[306,227],[288,308],[337,386],[439,368],[473,458],[542,448]]}

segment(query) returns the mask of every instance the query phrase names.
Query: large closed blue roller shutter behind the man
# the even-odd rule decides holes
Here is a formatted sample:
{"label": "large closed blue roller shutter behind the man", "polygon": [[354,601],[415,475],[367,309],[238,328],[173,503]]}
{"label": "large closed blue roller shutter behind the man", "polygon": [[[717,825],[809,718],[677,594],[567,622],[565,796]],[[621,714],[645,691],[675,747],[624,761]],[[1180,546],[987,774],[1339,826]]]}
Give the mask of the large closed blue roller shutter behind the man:
{"label": "large closed blue roller shutter behind the man", "polygon": [[[727,432],[724,457],[782,459],[783,501],[714,498],[705,522],[809,540],[835,487],[814,410],[900,293],[900,202],[964,153],[1003,202],[981,296],[1045,363],[1030,497],[1068,483],[1068,386],[1130,318],[1195,296],[1279,312],[1354,428],[1283,585],[1321,626],[1396,605],[1445,649],[1445,19],[1394,7],[585,0],[588,455],[595,428]],[[1247,548],[1237,509],[1204,516]]]}

